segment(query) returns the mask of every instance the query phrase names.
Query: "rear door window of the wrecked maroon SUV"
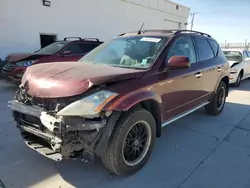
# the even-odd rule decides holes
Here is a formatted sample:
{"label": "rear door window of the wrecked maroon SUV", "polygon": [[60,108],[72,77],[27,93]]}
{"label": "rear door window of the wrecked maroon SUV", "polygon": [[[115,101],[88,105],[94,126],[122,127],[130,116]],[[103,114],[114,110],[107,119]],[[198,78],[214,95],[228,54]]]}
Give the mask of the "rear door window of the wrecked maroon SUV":
{"label": "rear door window of the wrecked maroon SUV", "polygon": [[202,37],[194,37],[200,61],[214,58],[214,52],[207,40]]}

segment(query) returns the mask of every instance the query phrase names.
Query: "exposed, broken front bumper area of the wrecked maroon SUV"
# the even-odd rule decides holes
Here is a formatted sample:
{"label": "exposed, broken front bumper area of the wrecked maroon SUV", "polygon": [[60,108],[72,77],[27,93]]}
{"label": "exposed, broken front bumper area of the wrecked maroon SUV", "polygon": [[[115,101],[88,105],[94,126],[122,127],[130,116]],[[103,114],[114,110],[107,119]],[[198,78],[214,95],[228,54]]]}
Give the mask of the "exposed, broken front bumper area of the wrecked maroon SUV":
{"label": "exposed, broken front bumper area of the wrecked maroon SUV", "polygon": [[95,155],[102,155],[119,116],[118,113],[94,119],[57,117],[55,112],[17,100],[9,101],[8,107],[13,111],[25,143],[55,161],[93,160]]}

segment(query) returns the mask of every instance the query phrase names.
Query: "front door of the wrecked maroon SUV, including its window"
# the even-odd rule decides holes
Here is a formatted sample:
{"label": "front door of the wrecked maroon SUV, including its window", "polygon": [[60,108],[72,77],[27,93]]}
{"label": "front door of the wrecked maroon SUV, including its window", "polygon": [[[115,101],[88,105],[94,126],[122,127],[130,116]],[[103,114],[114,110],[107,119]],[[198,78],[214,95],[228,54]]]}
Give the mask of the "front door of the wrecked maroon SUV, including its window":
{"label": "front door of the wrecked maroon SUV, including its window", "polygon": [[201,103],[202,72],[197,62],[197,55],[192,39],[189,36],[178,37],[170,46],[165,64],[172,56],[186,56],[191,66],[186,69],[169,70],[162,95],[164,120],[184,113]]}

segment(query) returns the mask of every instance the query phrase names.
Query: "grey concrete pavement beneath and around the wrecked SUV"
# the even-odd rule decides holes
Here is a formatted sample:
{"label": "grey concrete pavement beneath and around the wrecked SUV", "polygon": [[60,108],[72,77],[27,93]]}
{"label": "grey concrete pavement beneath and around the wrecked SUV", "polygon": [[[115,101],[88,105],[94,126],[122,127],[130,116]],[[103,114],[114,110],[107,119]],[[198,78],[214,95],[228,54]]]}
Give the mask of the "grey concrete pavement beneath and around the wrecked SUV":
{"label": "grey concrete pavement beneath and around the wrecked SUV", "polygon": [[0,81],[0,188],[249,188],[250,80],[231,89],[224,112],[203,109],[163,130],[139,173],[120,178],[100,164],[53,162],[23,143],[7,101],[15,87]]}

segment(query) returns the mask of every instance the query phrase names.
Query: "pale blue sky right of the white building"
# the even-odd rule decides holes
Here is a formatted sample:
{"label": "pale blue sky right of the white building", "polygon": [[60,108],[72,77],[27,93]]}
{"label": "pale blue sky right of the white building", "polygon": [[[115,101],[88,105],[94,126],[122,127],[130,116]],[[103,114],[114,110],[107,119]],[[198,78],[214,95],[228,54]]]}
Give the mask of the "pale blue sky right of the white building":
{"label": "pale blue sky right of the white building", "polygon": [[190,12],[198,12],[193,30],[207,32],[218,42],[250,42],[250,0],[173,1],[190,7]]}

